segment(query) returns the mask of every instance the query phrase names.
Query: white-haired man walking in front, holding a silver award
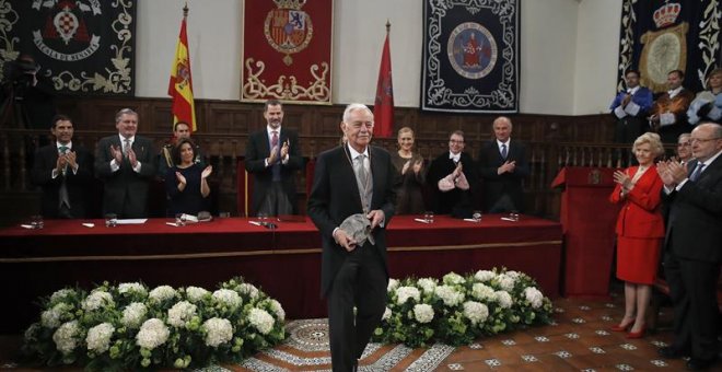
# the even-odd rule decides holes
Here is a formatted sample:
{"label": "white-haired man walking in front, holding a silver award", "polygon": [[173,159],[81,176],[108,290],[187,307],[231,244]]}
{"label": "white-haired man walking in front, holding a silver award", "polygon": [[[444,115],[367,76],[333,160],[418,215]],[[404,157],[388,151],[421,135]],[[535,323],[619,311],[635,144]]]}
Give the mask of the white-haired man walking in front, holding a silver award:
{"label": "white-haired man walking in front, holding a silver award", "polygon": [[[369,107],[346,107],[341,130],[347,141],[318,155],[308,197],[308,216],[322,235],[321,294],[328,300],[334,371],[358,368],[386,306],[385,226],[394,213],[395,170],[386,150],[369,146],[373,124]],[[340,228],[351,216],[369,222],[363,244]]]}

